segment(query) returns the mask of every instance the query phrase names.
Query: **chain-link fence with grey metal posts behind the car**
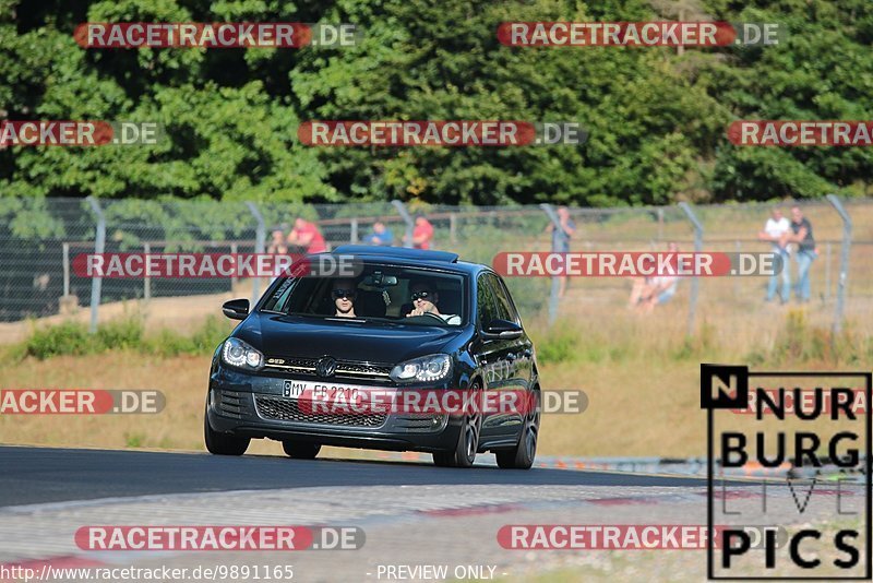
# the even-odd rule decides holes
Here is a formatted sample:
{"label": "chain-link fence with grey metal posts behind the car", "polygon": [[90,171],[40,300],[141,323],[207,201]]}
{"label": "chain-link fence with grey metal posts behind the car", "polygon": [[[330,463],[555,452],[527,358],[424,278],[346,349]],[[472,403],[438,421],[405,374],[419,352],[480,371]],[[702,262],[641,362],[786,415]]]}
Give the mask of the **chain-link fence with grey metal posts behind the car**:
{"label": "chain-link fence with grey metal posts behind the car", "polygon": [[[837,203],[838,204],[838,203]],[[780,205],[790,217],[790,205]],[[666,206],[645,209],[570,209],[576,225],[572,251],[666,251],[668,241],[681,250],[765,252],[770,245],[758,231],[772,204]],[[844,272],[847,225],[834,203],[801,203],[811,222],[818,258],[810,277],[812,301],[820,319],[839,321],[839,287],[846,284],[845,318],[856,321],[873,312],[873,275],[866,252],[873,231],[866,214],[870,200],[846,203],[853,222],[849,271]],[[501,251],[549,251],[553,221],[541,206],[414,206],[402,203],[310,205],[302,203],[217,202],[212,200],[0,199],[0,323],[58,314],[110,318],[105,308],[131,300],[145,309],[170,306],[186,297],[211,308],[229,297],[262,293],[265,278],[109,278],[83,277],[76,258],[94,252],[248,253],[270,250],[273,237],[284,240],[302,217],[318,225],[328,247],[367,243],[381,222],[394,245],[409,242],[415,217],[433,226],[431,248],[458,252],[463,259],[490,264]],[[697,225],[695,225],[697,222]],[[696,229],[698,226],[699,229]],[[103,242],[101,242],[103,241]],[[103,247],[103,249],[100,249]],[[289,252],[303,248],[290,246]],[[797,264],[789,262],[792,282]],[[581,318],[586,312],[623,308],[631,291],[627,278],[575,278],[558,298],[548,277],[510,277],[516,302],[526,318],[551,312],[551,319]],[[690,330],[709,312],[738,316],[761,308],[766,277],[682,279],[673,300],[689,318]],[[696,289],[695,289],[696,288]],[[793,300],[792,300],[793,301]],[[549,308],[551,307],[551,310]],[[681,313],[681,312],[680,312]]]}

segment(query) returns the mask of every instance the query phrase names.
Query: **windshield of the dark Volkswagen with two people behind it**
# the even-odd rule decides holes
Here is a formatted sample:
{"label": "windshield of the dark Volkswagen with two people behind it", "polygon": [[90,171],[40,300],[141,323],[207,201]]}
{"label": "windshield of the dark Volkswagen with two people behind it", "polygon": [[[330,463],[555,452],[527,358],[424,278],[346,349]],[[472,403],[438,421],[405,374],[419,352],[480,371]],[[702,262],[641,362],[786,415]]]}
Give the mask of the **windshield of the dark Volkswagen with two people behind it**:
{"label": "windshield of the dark Volkswagen with two people behind it", "polygon": [[324,319],[459,326],[466,322],[462,275],[363,264],[356,277],[286,277],[262,310]]}

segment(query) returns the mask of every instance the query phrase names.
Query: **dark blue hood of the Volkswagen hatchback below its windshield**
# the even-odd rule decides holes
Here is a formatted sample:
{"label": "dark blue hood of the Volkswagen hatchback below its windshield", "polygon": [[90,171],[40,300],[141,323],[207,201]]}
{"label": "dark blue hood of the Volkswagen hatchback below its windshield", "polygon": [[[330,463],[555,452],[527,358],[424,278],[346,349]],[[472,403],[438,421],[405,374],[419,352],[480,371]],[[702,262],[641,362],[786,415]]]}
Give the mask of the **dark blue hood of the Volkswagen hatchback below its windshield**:
{"label": "dark blue hood of the Volkswagen hatchback below its windshield", "polygon": [[463,328],[354,323],[280,314],[256,314],[234,333],[266,356],[395,364],[439,353]]}

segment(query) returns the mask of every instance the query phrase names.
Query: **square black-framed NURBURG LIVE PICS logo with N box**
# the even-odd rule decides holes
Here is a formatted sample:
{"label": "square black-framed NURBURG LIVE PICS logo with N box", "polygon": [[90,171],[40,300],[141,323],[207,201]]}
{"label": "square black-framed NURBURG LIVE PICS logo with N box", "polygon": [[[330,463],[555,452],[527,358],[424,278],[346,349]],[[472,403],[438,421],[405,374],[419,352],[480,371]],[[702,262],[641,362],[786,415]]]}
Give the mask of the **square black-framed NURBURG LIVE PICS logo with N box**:
{"label": "square black-framed NURBURG LIVE PICS logo with N box", "polygon": [[[870,403],[871,384],[870,372],[750,372],[745,366],[701,365],[708,540],[717,524],[750,517],[770,523],[776,517],[788,533],[781,552],[767,533],[762,552],[752,549],[742,527],[727,527],[723,545],[714,549],[707,543],[708,579],[870,581],[871,415],[861,419],[852,405],[858,391]],[[792,405],[810,391],[814,406]],[[731,418],[751,403],[754,415]],[[722,469],[718,491],[716,465]],[[784,478],[726,487],[725,469],[750,466],[790,469]],[[850,479],[859,469],[863,484]],[[825,472],[839,479],[822,477]]]}

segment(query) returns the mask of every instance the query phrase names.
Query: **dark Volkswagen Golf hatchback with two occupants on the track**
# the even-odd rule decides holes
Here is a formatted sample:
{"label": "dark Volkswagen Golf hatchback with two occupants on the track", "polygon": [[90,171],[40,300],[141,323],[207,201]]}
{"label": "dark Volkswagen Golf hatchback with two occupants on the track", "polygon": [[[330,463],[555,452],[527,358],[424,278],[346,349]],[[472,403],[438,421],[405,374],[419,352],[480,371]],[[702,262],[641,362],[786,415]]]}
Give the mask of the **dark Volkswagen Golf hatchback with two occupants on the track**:
{"label": "dark Volkswagen Golf hatchback with two occupants on the track", "polygon": [[[436,465],[469,467],[477,453],[493,452],[500,467],[529,468],[540,423],[537,364],[500,276],[442,251],[344,246],[333,255],[352,257],[355,276],[279,277],[251,310],[246,299],[224,305],[242,322],[213,356],[207,450],[241,455],[251,439],[268,438],[300,459],[338,445],[430,452]],[[349,415],[299,401],[306,391],[348,388],[513,391],[534,405]]]}

